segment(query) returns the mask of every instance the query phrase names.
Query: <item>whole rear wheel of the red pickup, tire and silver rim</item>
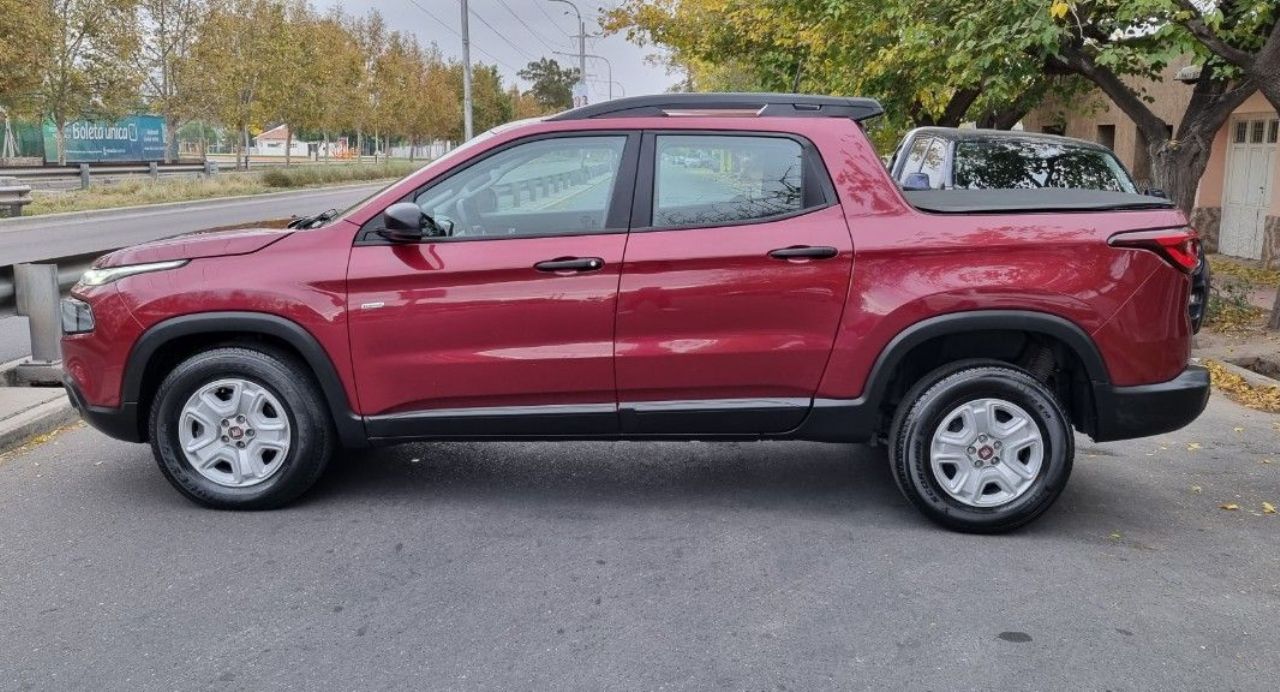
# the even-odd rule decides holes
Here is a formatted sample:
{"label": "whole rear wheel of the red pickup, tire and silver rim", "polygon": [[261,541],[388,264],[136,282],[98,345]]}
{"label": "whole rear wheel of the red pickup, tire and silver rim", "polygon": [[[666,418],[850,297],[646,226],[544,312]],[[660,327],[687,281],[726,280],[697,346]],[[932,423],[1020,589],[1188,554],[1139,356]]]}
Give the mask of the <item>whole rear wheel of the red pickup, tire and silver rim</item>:
{"label": "whole rear wheel of the red pickup, tire and silver rim", "polygon": [[1074,455],[1053,393],[998,361],[925,375],[890,429],[899,490],[931,521],[969,533],[1011,531],[1039,517],[1062,492]]}

